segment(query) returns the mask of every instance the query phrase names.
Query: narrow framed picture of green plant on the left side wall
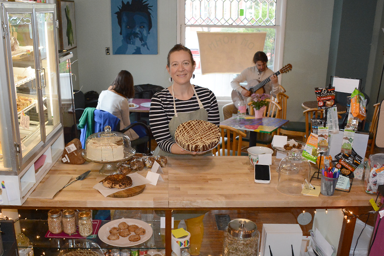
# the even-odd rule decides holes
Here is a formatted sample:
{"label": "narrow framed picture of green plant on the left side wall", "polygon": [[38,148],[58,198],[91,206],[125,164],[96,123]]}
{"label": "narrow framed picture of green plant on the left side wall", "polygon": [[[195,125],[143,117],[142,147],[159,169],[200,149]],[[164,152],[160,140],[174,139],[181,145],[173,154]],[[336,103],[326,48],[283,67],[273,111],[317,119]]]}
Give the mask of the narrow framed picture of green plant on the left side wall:
{"label": "narrow framed picture of green plant on the left side wall", "polygon": [[59,20],[59,50],[71,50],[77,47],[75,2],[57,0],[57,18]]}

